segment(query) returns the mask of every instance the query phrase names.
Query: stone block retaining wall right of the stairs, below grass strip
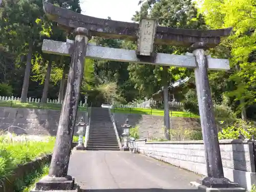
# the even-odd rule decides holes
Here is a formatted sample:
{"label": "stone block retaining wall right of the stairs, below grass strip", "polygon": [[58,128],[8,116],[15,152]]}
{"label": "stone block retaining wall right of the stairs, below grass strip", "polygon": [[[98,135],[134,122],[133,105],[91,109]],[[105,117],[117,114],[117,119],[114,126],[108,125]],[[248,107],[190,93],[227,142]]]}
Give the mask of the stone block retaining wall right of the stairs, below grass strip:
{"label": "stone block retaining wall right of the stairs, below grass strip", "polygon": [[[113,116],[119,135],[122,134],[121,126],[124,124],[125,120],[129,118],[129,123],[132,126],[139,127],[140,139],[164,137],[163,116],[124,113],[113,113]],[[173,129],[179,129],[180,127],[183,127],[186,129],[201,130],[199,118],[170,117],[170,126]]]}

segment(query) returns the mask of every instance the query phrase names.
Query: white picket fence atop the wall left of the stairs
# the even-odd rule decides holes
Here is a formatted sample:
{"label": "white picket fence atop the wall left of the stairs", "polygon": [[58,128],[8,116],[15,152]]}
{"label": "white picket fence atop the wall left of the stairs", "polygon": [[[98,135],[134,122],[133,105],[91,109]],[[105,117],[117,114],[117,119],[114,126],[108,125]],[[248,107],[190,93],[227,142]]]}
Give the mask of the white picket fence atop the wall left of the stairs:
{"label": "white picket fence atop the wall left of the stairs", "polygon": [[[27,98],[27,103],[39,103],[40,100],[41,99],[29,97],[29,98]],[[0,101],[20,102],[20,98],[14,97],[14,96],[11,96],[11,97],[0,96]],[[62,101],[58,102],[58,99],[47,98],[46,103],[62,104]],[[78,106],[86,106],[86,103],[82,103],[82,101],[80,101]]]}

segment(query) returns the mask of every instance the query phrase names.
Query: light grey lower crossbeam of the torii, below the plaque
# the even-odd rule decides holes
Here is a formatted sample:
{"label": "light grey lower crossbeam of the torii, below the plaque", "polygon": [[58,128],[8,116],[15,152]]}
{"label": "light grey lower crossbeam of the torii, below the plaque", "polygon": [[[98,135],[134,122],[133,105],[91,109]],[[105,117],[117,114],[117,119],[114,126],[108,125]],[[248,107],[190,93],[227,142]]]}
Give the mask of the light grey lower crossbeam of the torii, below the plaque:
{"label": "light grey lower crossbeam of the torii, below the plaque", "polygon": [[[71,56],[74,44],[70,42],[61,42],[44,39],[42,52]],[[174,66],[184,68],[195,68],[196,59],[194,56],[174,55],[157,53],[155,57],[137,57],[136,51],[127,49],[116,49],[109,47],[100,47],[88,44],[86,57],[92,59],[115,60],[122,62],[145,63],[151,65]],[[228,59],[207,58],[208,70],[229,70]]]}

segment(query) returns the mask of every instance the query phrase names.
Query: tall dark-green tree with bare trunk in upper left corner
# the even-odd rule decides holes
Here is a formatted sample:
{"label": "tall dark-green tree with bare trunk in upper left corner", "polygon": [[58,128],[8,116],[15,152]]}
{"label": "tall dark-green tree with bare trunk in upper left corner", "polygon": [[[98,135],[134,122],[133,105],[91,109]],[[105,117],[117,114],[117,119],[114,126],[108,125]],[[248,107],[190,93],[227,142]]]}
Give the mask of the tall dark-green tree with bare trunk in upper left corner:
{"label": "tall dark-green tree with bare trunk in upper left corner", "polygon": [[0,21],[2,44],[17,55],[27,55],[21,101],[26,102],[33,49],[38,40],[47,33],[47,26],[41,22],[42,2],[39,0],[4,0]]}

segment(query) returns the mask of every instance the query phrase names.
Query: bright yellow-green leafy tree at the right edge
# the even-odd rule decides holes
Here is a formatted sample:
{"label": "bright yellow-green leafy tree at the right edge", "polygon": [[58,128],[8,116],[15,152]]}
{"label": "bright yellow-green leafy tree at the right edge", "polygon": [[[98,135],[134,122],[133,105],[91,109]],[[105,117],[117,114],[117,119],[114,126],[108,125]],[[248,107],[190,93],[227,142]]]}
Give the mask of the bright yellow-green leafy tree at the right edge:
{"label": "bright yellow-green leafy tree at the right edge", "polygon": [[[230,58],[231,73],[228,74],[226,94],[245,119],[247,106],[256,101],[255,1],[205,0],[201,11],[211,28],[233,27],[233,34],[211,51]],[[239,105],[237,101],[240,101]]]}

